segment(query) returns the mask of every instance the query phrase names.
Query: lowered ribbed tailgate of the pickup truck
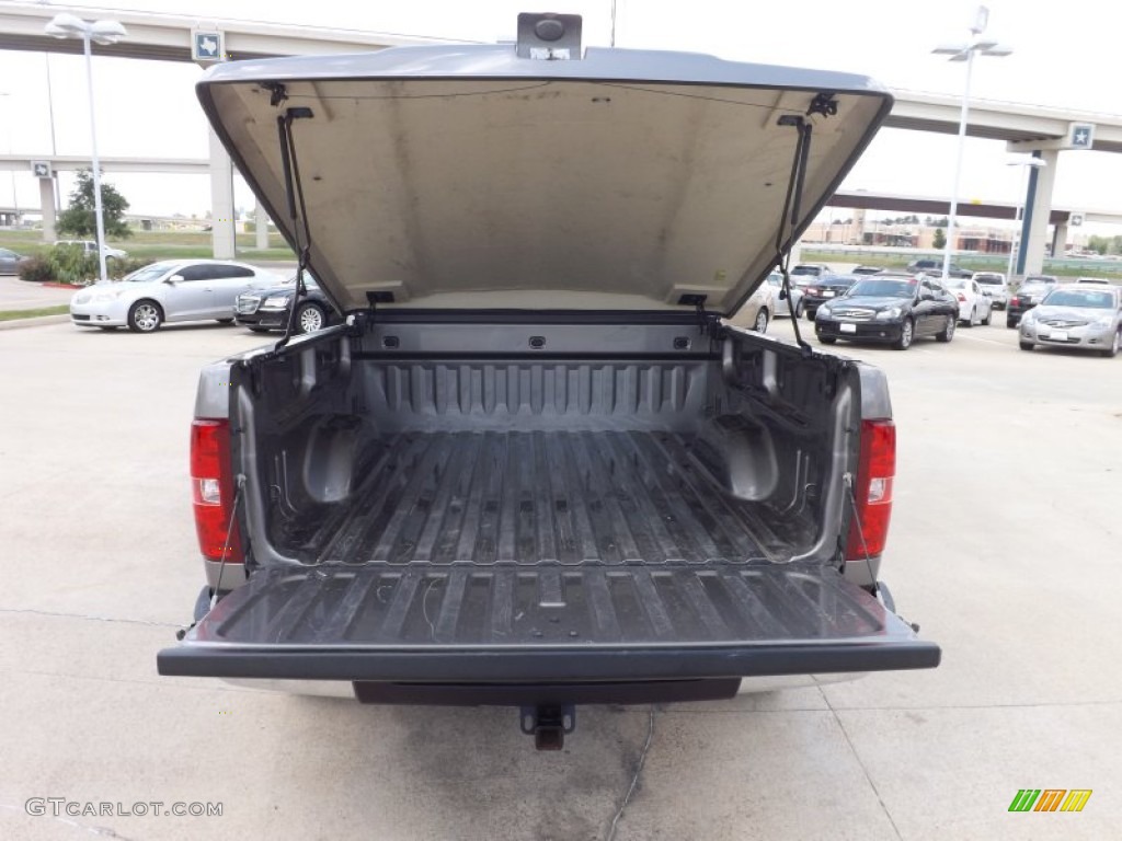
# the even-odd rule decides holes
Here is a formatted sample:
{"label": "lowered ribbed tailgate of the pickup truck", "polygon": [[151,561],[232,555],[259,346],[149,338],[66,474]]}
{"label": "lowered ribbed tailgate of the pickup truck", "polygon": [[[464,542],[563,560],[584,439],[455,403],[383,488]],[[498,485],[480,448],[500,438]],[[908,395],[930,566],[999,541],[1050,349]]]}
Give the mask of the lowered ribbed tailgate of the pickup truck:
{"label": "lowered ribbed tailgate of the pickup truck", "polygon": [[163,675],[430,683],[931,668],[939,647],[818,566],[274,569],[159,653]]}

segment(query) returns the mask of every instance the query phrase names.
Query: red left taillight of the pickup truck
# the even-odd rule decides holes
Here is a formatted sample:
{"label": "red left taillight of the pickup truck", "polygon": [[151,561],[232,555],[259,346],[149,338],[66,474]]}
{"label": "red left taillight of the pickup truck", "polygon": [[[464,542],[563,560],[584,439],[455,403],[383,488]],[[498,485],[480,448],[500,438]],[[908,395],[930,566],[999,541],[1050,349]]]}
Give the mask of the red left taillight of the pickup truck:
{"label": "red left taillight of the pickup truck", "polygon": [[191,424],[191,496],[203,556],[242,563],[241,536],[233,520],[229,420],[195,418]]}

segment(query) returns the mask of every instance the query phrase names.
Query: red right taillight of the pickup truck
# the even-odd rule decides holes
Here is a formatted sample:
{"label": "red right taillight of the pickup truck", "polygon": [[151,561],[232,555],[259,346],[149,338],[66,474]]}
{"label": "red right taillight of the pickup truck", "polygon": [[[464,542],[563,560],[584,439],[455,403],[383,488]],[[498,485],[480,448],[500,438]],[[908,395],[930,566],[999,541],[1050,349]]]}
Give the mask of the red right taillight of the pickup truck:
{"label": "red right taillight of the pickup truck", "polygon": [[861,422],[861,458],[853,488],[857,510],[849,524],[846,561],[884,552],[892,516],[892,480],[896,474],[896,427],[891,419]]}

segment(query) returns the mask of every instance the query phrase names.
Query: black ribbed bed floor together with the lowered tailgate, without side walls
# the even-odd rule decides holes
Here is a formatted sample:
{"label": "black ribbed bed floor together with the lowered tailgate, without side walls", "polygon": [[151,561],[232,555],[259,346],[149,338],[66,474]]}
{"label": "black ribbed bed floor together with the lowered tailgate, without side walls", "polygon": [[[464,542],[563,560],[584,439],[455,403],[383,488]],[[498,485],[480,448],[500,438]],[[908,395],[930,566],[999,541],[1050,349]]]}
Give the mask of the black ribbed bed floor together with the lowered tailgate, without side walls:
{"label": "black ribbed bed floor together with the lowered tailgate, without side walls", "polygon": [[314,564],[250,575],[163,674],[420,683],[682,681],[938,664],[831,567],[787,563],[669,432],[378,442]]}

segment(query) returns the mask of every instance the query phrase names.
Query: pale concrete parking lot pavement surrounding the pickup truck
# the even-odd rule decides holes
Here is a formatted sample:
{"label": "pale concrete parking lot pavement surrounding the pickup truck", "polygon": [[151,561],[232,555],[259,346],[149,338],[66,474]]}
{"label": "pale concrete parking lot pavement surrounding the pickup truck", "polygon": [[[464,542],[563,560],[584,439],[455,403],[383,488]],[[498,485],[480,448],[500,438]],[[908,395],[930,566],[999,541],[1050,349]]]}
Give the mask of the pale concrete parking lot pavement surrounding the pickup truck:
{"label": "pale concrete parking lot pavement surrounding the pickup truck", "polygon": [[[202,582],[196,373],[259,343],[217,325],[0,333],[0,838],[609,837],[646,708],[582,708],[565,750],[537,754],[509,710],[156,674]],[[996,325],[834,351],[890,373],[883,577],[944,664],[654,710],[616,838],[1118,838],[1122,358],[1024,353]],[[1094,793],[1082,813],[1010,813],[1021,788]],[[38,816],[35,797],[164,805]],[[165,815],[176,802],[222,814]]]}

